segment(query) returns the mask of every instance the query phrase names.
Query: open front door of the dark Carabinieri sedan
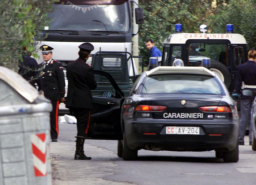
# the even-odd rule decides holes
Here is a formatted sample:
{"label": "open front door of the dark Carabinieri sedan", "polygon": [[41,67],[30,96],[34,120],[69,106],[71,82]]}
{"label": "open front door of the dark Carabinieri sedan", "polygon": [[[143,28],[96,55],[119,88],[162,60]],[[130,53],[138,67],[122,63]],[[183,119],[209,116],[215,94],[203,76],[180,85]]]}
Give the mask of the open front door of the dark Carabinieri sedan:
{"label": "open front door of the dark Carabinieri sedan", "polygon": [[121,140],[121,105],[124,93],[113,77],[103,71],[94,70],[97,88],[92,90],[93,110],[86,139]]}

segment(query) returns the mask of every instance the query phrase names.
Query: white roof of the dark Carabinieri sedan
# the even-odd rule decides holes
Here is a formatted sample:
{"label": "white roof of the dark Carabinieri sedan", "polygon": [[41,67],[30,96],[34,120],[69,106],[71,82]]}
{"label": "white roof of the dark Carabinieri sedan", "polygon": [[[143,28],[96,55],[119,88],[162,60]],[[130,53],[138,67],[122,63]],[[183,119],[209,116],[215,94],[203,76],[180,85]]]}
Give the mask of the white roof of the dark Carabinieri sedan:
{"label": "white roof of the dark Carabinieri sedan", "polygon": [[158,66],[146,72],[147,76],[156,74],[198,74],[215,77],[214,72],[204,67]]}

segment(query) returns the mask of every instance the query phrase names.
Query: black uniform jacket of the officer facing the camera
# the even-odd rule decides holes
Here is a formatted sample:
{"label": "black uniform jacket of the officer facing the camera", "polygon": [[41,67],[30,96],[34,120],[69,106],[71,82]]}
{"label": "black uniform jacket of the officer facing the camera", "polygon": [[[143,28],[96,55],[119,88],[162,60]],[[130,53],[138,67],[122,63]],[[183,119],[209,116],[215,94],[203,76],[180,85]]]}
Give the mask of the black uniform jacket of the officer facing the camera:
{"label": "black uniform jacket of the officer facing the camera", "polygon": [[[44,62],[40,64],[44,67]],[[65,78],[63,66],[56,60],[51,60],[50,63],[43,69],[42,81],[44,85],[44,95],[49,100],[60,100],[65,96]]]}

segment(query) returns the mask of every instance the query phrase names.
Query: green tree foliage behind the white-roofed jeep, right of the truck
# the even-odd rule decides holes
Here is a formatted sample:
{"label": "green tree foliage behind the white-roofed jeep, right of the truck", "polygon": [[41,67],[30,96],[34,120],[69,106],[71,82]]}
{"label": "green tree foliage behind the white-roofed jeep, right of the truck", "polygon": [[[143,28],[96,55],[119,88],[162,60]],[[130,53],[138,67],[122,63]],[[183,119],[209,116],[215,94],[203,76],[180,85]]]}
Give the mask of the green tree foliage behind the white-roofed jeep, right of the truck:
{"label": "green tree foliage behind the white-roofed jeep, right of the truck", "polygon": [[201,24],[206,24],[210,32],[225,33],[226,24],[233,24],[234,32],[246,38],[248,47],[256,47],[256,0],[143,0],[139,5],[145,19],[139,31],[144,63],[150,57],[146,39],[153,39],[162,51],[162,42],[174,33],[176,23],[182,24],[182,31],[191,33],[198,33]]}

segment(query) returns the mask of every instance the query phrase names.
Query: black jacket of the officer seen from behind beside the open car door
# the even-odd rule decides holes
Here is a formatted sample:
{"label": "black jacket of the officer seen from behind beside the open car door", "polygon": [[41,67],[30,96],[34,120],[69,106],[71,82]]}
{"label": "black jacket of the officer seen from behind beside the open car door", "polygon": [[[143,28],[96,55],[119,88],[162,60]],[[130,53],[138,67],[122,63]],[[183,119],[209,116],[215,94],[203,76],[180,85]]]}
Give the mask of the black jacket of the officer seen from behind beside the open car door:
{"label": "black jacket of the officer seen from behind beside the open car door", "polygon": [[68,95],[66,107],[92,109],[91,90],[96,89],[93,68],[83,58],[69,62],[67,65]]}

